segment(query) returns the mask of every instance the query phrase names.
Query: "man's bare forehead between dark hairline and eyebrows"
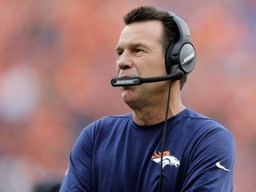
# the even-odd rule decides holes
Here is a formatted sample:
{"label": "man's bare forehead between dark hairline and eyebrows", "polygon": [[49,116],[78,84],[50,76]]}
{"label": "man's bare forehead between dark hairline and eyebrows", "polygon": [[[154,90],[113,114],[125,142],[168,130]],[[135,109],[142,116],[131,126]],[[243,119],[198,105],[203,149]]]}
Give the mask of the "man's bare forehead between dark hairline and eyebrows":
{"label": "man's bare forehead between dark hairline and eyebrows", "polygon": [[130,43],[161,44],[163,34],[164,27],[159,20],[134,22],[124,27],[117,46],[124,46],[124,44]]}

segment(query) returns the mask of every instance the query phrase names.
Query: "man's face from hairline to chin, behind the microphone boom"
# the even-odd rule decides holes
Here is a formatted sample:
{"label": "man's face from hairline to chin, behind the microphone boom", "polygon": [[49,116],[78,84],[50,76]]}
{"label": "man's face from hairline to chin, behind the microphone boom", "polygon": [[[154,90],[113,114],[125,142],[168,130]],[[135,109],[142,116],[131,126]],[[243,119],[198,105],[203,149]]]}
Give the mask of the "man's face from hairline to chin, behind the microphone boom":
{"label": "man's face from hairline to chin, behind the microphone boom", "polygon": [[[158,20],[135,22],[124,27],[116,45],[116,72],[124,76],[164,76],[163,24]],[[137,108],[138,103],[156,102],[162,90],[162,84],[142,84],[122,87],[122,98],[130,107]],[[160,85],[160,86],[159,86]],[[159,94],[158,94],[159,93]],[[154,96],[154,97],[152,97]],[[134,106],[134,104],[137,104]]]}

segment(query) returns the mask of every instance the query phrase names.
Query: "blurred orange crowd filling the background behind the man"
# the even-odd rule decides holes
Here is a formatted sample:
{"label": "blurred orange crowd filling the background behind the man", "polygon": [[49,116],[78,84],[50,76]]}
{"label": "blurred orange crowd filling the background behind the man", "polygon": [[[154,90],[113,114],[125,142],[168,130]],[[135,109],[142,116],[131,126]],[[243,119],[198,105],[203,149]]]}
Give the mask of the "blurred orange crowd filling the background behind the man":
{"label": "blurred orange crowd filling the background behind the man", "polygon": [[234,191],[256,188],[254,0],[0,0],[0,192],[60,184],[84,126],[129,112],[109,82],[122,17],[140,5],[188,21],[197,62],[183,102],[234,133]]}

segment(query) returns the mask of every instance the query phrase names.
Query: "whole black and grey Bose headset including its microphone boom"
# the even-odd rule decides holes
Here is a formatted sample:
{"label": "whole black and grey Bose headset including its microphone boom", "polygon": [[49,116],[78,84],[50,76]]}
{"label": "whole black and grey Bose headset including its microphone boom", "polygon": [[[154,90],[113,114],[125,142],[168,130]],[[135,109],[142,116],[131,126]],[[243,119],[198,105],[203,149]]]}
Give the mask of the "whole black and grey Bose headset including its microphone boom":
{"label": "whole black and grey Bose headset including its microphone boom", "polygon": [[112,78],[112,86],[134,86],[145,83],[178,80],[187,76],[196,65],[196,51],[191,43],[190,32],[185,20],[182,20],[173,12],[168,12],[177,25],[179,38],[170,43],[165,52],[165,68],[167,76],[156,77],[131,77],[131,78]]}

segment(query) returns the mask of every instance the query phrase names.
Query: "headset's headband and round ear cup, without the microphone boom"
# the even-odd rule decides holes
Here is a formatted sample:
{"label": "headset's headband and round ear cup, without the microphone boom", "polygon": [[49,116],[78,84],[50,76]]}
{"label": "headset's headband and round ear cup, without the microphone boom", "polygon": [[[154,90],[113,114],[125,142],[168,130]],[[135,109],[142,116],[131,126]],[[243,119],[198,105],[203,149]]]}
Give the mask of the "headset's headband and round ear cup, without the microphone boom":
{"label": "headset's headband and round ear cup, without the microphone boom", "polygon": [[196,65],[196,51],[191,42],[188,24],[173,12],[168,12],[179,30],[179,38],[169,44],[165,52],[167,74],[182,71],[187,76]]}

